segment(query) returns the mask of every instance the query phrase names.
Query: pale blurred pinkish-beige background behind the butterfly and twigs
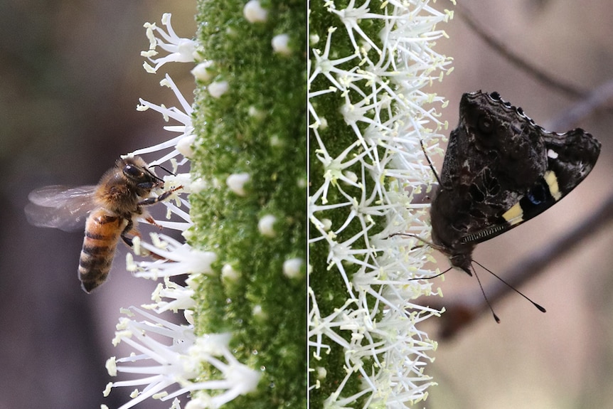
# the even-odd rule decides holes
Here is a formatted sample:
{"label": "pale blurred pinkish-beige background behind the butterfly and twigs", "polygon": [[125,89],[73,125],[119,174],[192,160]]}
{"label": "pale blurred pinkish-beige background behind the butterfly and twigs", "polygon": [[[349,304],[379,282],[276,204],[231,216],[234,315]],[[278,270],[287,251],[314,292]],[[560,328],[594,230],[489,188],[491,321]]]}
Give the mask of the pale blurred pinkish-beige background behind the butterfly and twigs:
{"label": "pale blurred pinkish-beige background behind the butterfly and twigs", "polygon": [[[459,1],[476,21],[526,61],[577,88],[592,91],[613,80],[613,3],[609,0]],[[437,1],[438,8],[451,8]],[[492,50],[459,15],[444,26],[449,40],[439,51],[454,58],[454,72],[437,92],[449,99],[443,119],[457,126],[463,92],[498,91],[546,129],[578,99],[546,87]],[[537,218],[479,245],[474,258],[499,275],[582,223],[613,194],[613,98],[571,127],[602,142],[592,174],[563,201]],[[448,134],[448,133],[447,133]],[[440,169],[442,159],[437,158]],[[613,400],[613,225],[590,236],[548,270],[523,285],[547,309],[538,312],[517,294],[454,339],[440,341],[427,371],[439,386],[416,407],[440,408],[609,408]],[[437,256],[439,267],[448,265]],[[477,267],[484,287],[496,279]],[[474,277],[451,271],[442,287],[444,302],[482,295]],[[435,322],[430,323],[434,331]]]}

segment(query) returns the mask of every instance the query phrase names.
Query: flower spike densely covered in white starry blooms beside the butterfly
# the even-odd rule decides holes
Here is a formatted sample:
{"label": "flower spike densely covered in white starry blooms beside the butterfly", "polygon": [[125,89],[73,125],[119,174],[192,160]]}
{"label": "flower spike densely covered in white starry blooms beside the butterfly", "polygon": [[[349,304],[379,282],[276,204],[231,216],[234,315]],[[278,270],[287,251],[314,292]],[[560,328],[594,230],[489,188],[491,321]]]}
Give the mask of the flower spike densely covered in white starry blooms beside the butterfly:
{"label": "flower spike densely covered in white starry blooms beside the butterfly", "polygon": [[[310,282],[340,275],[338,299],[345,299],[324,314],[321,305],[331,295],[309,288],[309,390],[315,395],[336,385],[322,399],[328,408],[405,408],[425,399],[433,383],[423,371],[436,342],[417,324],[440,312],[410,302],[430,294],[430,284],[407,281],[431,274],[422,267],[428,250],[414,238],[390,237],[425,238],[430,230],[428,205],[415,199],[432,180],[420,141],[440,137],[436,132],[446,124],[431,105],[446,104],[423,89],[446,71],[449,60],[432,46],[444,36],[435,25],[452,14],[428,3],[390,0],[375,7],[367,0],[356,7],[351,0],[336,9],[327,1],[336,26],[319,32],[309,23],[311,151],[323,169],[311,170],[309,243],[323,241],[328,249],[326,271],[311,272]],[[311,21],[314,16],[311,10]],[[363,28],[373,26],[380,30],[369,37]],[[343,44],[353,50],[343,53]],[[329,132],[333,122],[346,124],[350,135],[341,147],[338,128]],[[311,259],[317,256],[311,251]],[[339,349],[344,376],[332,379],[326,356]]]}

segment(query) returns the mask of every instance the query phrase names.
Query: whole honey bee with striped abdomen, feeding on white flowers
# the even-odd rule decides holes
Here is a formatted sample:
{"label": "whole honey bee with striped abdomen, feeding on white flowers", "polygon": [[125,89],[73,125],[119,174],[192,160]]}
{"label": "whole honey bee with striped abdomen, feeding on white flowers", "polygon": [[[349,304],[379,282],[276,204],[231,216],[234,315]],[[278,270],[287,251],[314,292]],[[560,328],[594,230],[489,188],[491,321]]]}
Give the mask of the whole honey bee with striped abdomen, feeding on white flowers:
{"label": "whole honey bee with striped abdomen, feeding on white flowers", "polygon": [[107,279],[119,238],[132,247],[132,238],[139,235],[137,219],[157,225],[143,206],[163,201],[183,187],[151,196],[151,191],[163,185],[143,159],[127,157],[119,159],[97,185],[47,186],[32,191],[26,216],[38,227],[66,231],[79,228],[87,218],[78,271],[81,287],[89,293]]}

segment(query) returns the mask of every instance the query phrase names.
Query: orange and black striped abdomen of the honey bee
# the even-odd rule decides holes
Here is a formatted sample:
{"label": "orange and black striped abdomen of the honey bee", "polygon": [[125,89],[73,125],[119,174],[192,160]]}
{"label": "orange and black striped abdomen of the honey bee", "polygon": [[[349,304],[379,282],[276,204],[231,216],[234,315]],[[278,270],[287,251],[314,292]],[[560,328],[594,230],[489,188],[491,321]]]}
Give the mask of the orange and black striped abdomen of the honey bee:
{"label": "orange and black striped abdomen of the honey bee", "polygon": [[87,218],[79,258],[79,280],[85,292],[91,292],[107,279],[124,221],[100,208]]}

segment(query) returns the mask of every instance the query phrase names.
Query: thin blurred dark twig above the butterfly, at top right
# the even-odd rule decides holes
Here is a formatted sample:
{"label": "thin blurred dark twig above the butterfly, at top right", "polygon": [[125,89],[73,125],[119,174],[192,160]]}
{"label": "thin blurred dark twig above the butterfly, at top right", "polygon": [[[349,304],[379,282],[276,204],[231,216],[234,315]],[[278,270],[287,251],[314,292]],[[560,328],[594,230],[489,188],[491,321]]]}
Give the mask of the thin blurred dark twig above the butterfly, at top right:
{"label": "thin blurred dark twig above the butterfly, at top right", "polygon": [[543,83],[543,85],[563,92],[573,98],[584,97],[587,94],[585,90],[580,90],[574,85],[570,85],[562,80],[553,78],[553,75],[550,73],[546,73],[544,70],[541,70],[535,65],[528,63],[528,61],[523,59],[521,56],[509,50],[505,44],[494,38],[491,33],[486,32],[486,30],[476,21],[476,18],[472,16],[470,11],[464,6],[461,6],[459,2],[456,5],[456,11],[460,18],[467,23],[467,25],[474,31],[474,33],[476,33],[477,36],[479,36],[479,38],[481,38],[481,40],[483,40],[495,51],[503,55],[503,57],[509,60],[513,65],[516,65],[517,68],[525,71],[528,73],[528,75],[531,75],[533,78],[535,78],[535,80],[538,80],[540,83]]}

